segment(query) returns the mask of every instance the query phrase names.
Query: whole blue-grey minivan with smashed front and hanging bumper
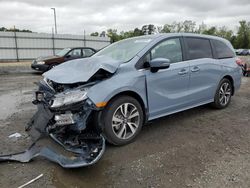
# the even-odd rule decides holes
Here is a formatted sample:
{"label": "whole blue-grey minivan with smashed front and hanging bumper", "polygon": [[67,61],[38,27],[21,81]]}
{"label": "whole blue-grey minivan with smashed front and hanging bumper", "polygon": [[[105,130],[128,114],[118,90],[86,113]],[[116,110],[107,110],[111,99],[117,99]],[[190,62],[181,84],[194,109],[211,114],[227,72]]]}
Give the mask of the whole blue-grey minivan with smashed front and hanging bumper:
{"label": "whole blue-grey minivan with smashed front and hanging bumper", "polygon": [[35,141],[50,135],[76,157],[31,147],[18,159],[40,155],[68,168],[98,161],[105,140],[132,142],[149,120],[207,103],[225,108],[241,83],[227,40],[173,33],[122,40],[43,76],[26,129]]}

